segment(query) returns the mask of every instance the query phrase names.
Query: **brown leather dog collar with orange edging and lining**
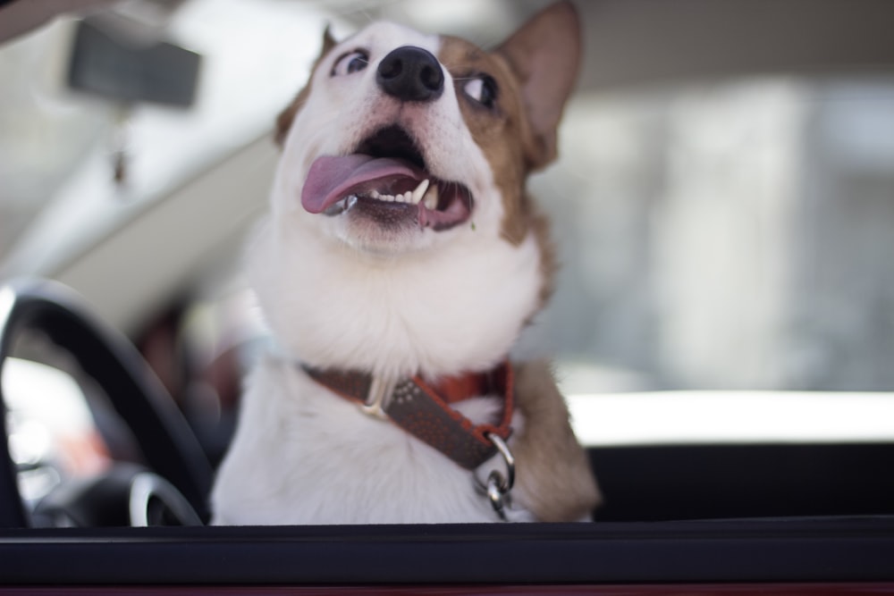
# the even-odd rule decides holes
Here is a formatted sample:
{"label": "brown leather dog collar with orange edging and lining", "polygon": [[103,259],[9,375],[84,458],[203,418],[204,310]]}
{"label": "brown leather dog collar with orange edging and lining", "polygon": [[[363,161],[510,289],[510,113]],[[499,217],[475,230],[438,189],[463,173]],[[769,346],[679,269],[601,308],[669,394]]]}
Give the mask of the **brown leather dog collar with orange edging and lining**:
{"label": "brown leather dog collar with orange edging and lining", "polygon": [[[342,398],[358,404],[366,404],[373,385],[370,374],[357,371],[320,370],[304,366],[305,372],[325,388]],[[493,371],[475,374],[474,380],[460,379],[448,382],[451,387],[475,388],[475,393],[466,399],[481,395],[501,395],[503,412],[499,424],[473,424],[466,416],[450,407],[448,399],[443,399],[431,385],[415,376],[403,379],[394,385],[391,394],[384,399],[384,413],[403,430],[425,441],[434,449],[450,457],[460,466],[473,470],[490,457],[496,455],[493,442],[487,434],[499,435],[504,441],[512,432],[510,424],[513,411],[512,367],[504,363]],[[440,384],[444,384],[442,381]],[[450,396],[457,401],[460,396]]]}

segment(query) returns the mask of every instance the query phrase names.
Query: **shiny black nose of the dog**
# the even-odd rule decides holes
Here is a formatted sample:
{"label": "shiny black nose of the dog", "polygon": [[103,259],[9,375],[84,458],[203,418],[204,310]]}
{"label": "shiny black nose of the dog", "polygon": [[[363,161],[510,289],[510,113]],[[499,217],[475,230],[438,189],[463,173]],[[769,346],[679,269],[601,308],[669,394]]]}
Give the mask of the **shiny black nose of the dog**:
{"label": "shiny black nose of the dog", "polygon": [[379,87],[401,101],[430,101],[441,96],[444,75],[430,52],[403,46],[386,55],[375,73]]}

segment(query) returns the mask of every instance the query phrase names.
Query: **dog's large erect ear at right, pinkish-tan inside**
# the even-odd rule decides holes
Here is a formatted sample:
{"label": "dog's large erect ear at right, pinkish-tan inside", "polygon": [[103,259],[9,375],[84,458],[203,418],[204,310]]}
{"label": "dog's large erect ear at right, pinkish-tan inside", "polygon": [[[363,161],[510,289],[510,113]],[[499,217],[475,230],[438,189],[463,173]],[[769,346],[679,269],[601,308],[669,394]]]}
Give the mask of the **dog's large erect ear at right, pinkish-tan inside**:
{"label": "dog's large erect ear at right, pinkish-tan inside", "polygon": [[534,167],[556,156],[556,127],[578,79],[581,42],[578,11],[570,2],[536,14],[498,47],[521,82],[536,147]]}

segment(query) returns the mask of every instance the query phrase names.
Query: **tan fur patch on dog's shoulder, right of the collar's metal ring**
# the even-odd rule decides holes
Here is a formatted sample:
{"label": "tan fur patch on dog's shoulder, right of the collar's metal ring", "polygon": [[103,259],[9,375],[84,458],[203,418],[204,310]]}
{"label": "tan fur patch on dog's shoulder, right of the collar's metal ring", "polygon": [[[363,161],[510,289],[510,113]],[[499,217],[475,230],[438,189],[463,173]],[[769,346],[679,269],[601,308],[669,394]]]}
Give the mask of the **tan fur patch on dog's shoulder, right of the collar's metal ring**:
{"label": "tan fur patch on dog's shoulder, right of the collar's metal ring", "polygon": [[516,365],[516,399],[525,427],[511,443],[523,507],[542,522],[580,521],[601,497],[586,451],[571,430],[568,407],[550,365]]}

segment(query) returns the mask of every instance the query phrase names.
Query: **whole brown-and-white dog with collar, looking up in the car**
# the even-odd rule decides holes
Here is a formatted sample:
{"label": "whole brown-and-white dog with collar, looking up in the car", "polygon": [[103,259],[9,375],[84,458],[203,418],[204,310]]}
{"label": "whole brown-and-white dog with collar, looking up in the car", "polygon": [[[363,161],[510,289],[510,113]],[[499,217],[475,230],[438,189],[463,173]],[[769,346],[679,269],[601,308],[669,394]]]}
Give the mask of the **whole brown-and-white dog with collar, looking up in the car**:
{"label": "whole brown-and-white dog with collar, looking up in the car", "polygon": [[375,22],[279,116],[249,278],[277,348],[249,373],[219,525],[589,519],[599,491],[550,366],[510,363],[552,292],[526,180],[556,157],[577,12],[493,52]]}

